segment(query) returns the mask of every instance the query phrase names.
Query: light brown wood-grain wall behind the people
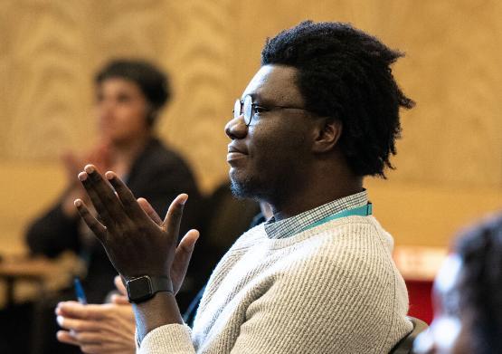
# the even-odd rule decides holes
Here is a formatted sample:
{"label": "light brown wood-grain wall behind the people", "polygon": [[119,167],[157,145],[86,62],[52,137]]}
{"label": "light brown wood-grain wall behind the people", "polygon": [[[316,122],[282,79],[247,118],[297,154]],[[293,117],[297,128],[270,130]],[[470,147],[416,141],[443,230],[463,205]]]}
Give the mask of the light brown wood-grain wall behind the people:
{"label": "light brown wood-grain wall behind the people", "polygon": [[[394,67],[418,102],[386,181],[368,182],[398,244],[446,245],[502,205],[502,3],[497,0],[3,0],[0,2],[0,253],[64,185],[59,155],[92,143],[92,75],[118,56],[171,73],[159,135],[210,192],[226,177],[223,125],[267,36],[339,20],[407,57]],[[13,251],[13,252],[14,252]]]}

